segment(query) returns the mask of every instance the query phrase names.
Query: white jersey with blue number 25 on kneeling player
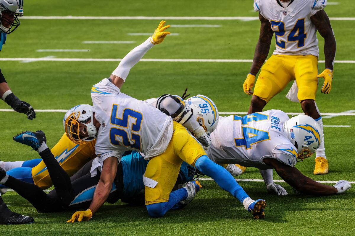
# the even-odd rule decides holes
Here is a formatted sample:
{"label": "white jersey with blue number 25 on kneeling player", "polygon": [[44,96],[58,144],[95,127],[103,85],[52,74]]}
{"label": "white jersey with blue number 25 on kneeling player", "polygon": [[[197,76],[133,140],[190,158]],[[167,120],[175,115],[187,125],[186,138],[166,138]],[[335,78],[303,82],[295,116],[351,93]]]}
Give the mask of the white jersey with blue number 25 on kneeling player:
{"label": "white jersey with blue number 25 on kneeling player", "polygon": [[98,117],[102,126],[95,144],[101,165],[106,158],[120,158],[127,150],[142,152],[147,159],[166,150],[173,134],[170,116],[122,93],[109,79],[92,87],[91,98],[102,118]]}

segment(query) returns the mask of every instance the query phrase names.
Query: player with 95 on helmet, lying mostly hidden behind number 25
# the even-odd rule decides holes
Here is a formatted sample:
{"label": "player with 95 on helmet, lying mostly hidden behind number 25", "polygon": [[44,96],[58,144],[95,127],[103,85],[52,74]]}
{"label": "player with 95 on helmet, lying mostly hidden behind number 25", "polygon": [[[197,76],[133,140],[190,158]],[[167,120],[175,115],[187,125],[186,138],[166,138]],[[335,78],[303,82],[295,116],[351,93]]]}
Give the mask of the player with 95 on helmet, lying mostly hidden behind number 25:
{"label": "player with 95 on helmet, lying mostly hidden behind number 25", "polygon": [[[200,143],[204,143],[206,149],[209,147],[211,140],[208,134],[213,131],[218,123],[218,111],[211,99],[204,95],[197,95],[184,100],[177,95],[165,94],[159,98],[147,99],[146,101],[170,116],[186,113],[185,111],[190,113],[191,111],[191,116],[186,119],[183,126],[189,129]],[[157,103],[158,101],[159,103]],[[203,108],[200,108],[200,106]],[[59,142],[51,149],[51,152],[65,172],[72,176],[86,162],[96,157],[94,146],[95,140],[79,145],[71,142],[66,134],[63,134]],[[47,167],[40,158],[28,161],[0,161],[0,167],[12,177],[35,184],[41,189],[48,189],[53,185]],[[225,168],[232,175],[241,174],[241,170],[235,165],[228,165]],[[4,190],[2,188],[6,188],[6,186],[0,185],[0,190]]]}

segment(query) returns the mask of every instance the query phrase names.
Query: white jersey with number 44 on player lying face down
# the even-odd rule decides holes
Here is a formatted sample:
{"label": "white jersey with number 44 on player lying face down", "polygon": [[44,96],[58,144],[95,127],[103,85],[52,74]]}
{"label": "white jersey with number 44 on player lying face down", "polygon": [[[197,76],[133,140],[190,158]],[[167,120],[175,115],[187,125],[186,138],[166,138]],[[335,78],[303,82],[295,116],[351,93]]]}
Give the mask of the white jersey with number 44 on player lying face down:
{"label": "white jersey with number 44 on player lying face down", "polygon": [[239,164],[271,169],[263,159],[271,157],[288,165],[297,163],[296,147],[282,130],[289,117],[280,110],[268,110],[246,116],[219,117],[211,133],[208,157],[216,163]]}

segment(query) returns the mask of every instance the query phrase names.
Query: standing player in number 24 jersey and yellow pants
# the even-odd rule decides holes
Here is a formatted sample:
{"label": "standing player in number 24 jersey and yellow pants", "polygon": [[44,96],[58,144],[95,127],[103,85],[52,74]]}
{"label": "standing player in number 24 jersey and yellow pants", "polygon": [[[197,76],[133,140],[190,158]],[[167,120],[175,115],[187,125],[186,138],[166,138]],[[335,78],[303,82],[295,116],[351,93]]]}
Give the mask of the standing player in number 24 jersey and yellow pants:
{"label": "standing player in number 24 jersey and yellow pants", "polygon": [[[255,0],[259,12],[260,36],[250,73],[243,84],[244,92],[253,95],[248,114],[262,111],[266,103],[281,92],[289,81],[295,80],[288,98],[300,102],[304,113],[315,119],[323,130],[323,122],[315,103],[318,78],[323,77],[321,92],[329,94],[332,88],[335,58],[335,37],[329,18],[323,8],[327,0]],[[318,74],[317,30],[324,38],[326,69]],[[269,53],[275,33],[276,49]],[[262,66],[263,65],[263,66]],[[261,68],[255,89],[255,76]],[[316,152],[313,174],[328,173],[324,141]]]}

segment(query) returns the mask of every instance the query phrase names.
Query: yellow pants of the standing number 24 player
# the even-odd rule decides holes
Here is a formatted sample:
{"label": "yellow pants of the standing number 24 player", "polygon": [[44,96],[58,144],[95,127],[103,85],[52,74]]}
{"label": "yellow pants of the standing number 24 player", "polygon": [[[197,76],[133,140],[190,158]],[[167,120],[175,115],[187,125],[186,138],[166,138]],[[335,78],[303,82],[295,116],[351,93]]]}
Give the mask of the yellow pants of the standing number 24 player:
{"label": "yellow pants of the standing number 24 player", "polygon": [[298,100],[316,99],[318,57],[313,55],[272,55],[262,66],[253,95],[269,102],[291,80],[296,80]]}

